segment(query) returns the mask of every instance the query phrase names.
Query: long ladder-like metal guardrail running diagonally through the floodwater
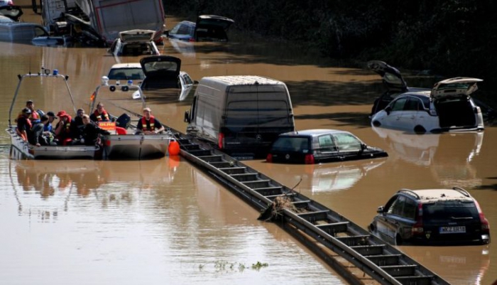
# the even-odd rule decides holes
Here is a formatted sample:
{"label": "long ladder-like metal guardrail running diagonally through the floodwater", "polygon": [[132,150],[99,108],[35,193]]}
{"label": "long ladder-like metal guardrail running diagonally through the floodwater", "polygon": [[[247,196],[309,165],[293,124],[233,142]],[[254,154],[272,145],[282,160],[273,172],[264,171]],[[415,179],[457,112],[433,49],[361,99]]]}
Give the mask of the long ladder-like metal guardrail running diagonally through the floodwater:
{"label": "long ladder-like metal guardrail running diagonally through the floodwater", "polygon": [[273,205],[278,197],[289,199],[293,210],[280,210],[278,220],[281,226],[312,249],[349,283],[364,284],[323,247],[354,264],[379,284],[449,284],[430,269],[339,213],[273,181],[209,144],[182,134],[176,136],[182,156],[207,171],[254,208],[263,211]]}

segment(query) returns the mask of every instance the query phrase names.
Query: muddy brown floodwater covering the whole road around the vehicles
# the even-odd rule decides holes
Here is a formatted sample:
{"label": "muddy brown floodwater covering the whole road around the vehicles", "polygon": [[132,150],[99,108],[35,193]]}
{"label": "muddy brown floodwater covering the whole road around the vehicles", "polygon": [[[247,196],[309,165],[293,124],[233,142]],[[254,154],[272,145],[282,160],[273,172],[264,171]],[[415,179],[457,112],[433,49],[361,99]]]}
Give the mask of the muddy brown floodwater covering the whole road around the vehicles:
{"label": "muddy brown floodwater covering the whole road around the vehicles", "polygon": [[[33,13],[26,8],[25,14],[26,21]],[[389,154],[317,166],[246,161],[276,181],[298,183],[295,190],[364,227],[400,188],[460,186],[479,200],[497,237],[495,127],[479,134],[425,135],[372,129],[367,115],[382,91],[378,76],[311,53],[302,56],[287,43],[234,35],[219,44],[165,41],[160,50],[181,58],[182,70],[195,80],[212,75],[282,80],[297,129],[345,129]],[[70,77],[77,107],[87,109],[89,95],[114,63],[104,48],[0,42],[0,127],[8,124],[16,75],[58,69]],[[62,91],[48,82],[28,85],[14,114],[27,99],[45,112],[72,110]],[[185,131],[182,119],[190,100],[155,95],[147,104],[161,122]],[[122,101],[135,107],[131,96]],[[15,161],[4,133],[0,181],[0,284],[344,284],[302,244],[280,227],[256,220],[256,210],[182,158]],[[400,249],[451,284],[497,279],[495,242]],[[257,262],[268,267],[253,268]]]}

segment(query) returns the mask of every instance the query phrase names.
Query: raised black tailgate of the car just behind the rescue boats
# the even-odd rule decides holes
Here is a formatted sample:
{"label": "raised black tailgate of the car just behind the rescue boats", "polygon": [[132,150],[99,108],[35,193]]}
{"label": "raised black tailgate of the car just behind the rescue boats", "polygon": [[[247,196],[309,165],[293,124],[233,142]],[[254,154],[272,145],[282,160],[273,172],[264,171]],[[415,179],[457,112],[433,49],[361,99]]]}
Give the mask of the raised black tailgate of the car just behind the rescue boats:
{"label": "raised black tailgate of the car just behind the rescue boats", "polygon": [[169,55],[153,55],[140,60],[146,79],[178,78],[181,60]]}

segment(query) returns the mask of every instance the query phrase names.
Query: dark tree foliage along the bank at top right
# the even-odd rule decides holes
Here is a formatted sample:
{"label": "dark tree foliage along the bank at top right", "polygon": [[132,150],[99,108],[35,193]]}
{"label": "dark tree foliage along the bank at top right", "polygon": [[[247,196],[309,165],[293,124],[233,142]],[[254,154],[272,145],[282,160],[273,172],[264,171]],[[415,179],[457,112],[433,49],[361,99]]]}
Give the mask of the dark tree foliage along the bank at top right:
{"label": "dark tree foliage along the bank at top right", "polygon": [[236,21],[234,28],[307,43],[330,58],[497,78],[496,1],[171,0],[165,9],[227,16]]}

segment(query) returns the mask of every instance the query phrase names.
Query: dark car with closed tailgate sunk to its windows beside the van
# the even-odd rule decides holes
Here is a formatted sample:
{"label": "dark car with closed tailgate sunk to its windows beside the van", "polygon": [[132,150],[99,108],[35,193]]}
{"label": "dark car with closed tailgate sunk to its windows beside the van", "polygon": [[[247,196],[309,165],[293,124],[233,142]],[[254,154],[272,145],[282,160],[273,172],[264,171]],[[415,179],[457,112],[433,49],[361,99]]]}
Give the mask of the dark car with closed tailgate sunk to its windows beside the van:
{"label": "dark car with closed tailgate sunk to its windows beside the van", "polygon": [[280,134],[266,161],[314,164],[386,156],[386,151],[367,146],[349,131],[308,129]]}

